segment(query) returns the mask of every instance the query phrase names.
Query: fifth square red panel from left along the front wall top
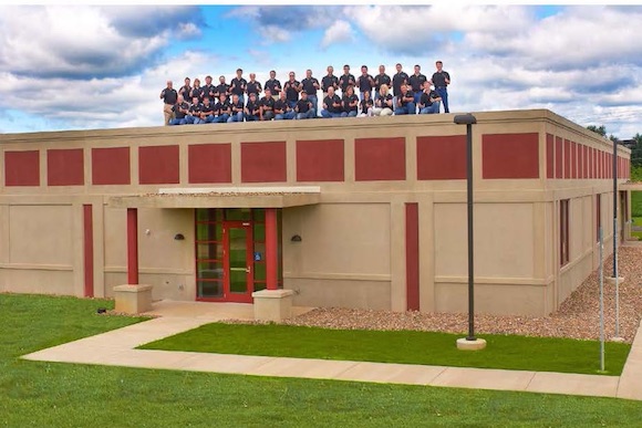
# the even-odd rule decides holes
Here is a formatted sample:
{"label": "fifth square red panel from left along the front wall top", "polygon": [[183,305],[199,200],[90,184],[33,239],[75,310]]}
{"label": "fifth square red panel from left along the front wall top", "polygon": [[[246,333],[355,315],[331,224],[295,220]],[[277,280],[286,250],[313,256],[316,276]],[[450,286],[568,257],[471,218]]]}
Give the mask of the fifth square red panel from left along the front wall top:
{"label": "fifth square red panel from left along the front wall top", "polygon": [[189,182],[231,182],[231,144],[187,147]]}

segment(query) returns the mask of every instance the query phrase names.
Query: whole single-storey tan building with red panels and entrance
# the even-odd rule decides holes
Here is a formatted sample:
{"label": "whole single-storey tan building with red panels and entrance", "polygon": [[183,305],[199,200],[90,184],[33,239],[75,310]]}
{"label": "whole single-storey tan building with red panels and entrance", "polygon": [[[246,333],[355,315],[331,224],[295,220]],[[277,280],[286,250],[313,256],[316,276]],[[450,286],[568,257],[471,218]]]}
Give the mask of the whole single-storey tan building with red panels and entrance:
{"label": "whole single-storey tan building with red panels and entrance", "polygon": [[[612,249],[613,146],[545,109],[475,115],[476,309],[546,315],[598,267],[600,226]],[[284,289],[296,305],[467,309],[466,127],[453,115],[0,145],[0,291],[113,296],[141,283],[155,300]],[[625,182],[631,152],[618,150]]]}

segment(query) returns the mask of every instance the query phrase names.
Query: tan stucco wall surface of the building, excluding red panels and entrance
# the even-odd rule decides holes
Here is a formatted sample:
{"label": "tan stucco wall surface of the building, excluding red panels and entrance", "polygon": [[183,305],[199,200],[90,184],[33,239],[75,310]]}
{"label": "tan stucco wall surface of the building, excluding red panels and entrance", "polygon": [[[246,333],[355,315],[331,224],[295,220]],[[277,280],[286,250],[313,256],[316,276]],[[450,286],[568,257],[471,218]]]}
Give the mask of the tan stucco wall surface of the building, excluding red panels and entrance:
{"label": "tan stucco wall surface of the building, excluding red panels and entrance", "polygon": [[[598,265],[594,195],[602,194],[604,253],[612,249],[612,181],[546,179],[546,134],[607,149],[609,143],[548,111],[476,114],[474,129],[476,307],[486,313],[545,315]],[[216,132],[214,132],[216,129]],[[483,179],[484,134],[537,133],[538,179]],[[126,281],[125,209],[110,196],[189,185],[189,144],[230,143],[231,184],[300,186],[297,139],[344,139],[344,182],[320,186],[320,203],[283,209],[283,276],[296,304],[406,309],[405,203],[418,203],[420,304],[425,312],[465,312],[467,286],[465,180],[417,180],[416,137],[463,135],[453,115],[296,121],[87,132],[0,135],[6,150],[40,150],[39,187],[0,180],[0,290],[82,295],[82,206],[93,206],[94,294],[112,296]],[[356,181],[354,140],[405,136],[406,180]],[[287,181],[242,184],[240,143],[284,140]],[[178,185],[138,185],[138,147],[178,145]],[[128,146],[130,186],[93,186],[91,148]],[[83,186],[48,187],[48,148],[84,148]],[[629,152],[621,149],[621,156]],[[213,185],[211,187],[217,187]],[[571,199],[570,262],[559,263],[559,200]],[[146,233],[149,230],[149,233]],[[185,240],[174,240],[183,233]],[[301,242],[290,237],[300,234]],[[154,299],[195,299],[194,211],[141,208],[141,283]]]}

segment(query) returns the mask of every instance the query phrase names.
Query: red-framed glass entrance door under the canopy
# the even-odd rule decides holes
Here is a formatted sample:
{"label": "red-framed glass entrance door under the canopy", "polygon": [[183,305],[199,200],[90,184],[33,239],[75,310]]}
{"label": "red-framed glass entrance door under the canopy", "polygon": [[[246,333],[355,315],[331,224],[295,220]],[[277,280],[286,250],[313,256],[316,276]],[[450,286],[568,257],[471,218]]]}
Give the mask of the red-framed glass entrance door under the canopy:
{"label": "red-framed glass entrance door under the canopy", "polygon": [[224,300],[251,303],[253,291],[252,223],[224,221]]}

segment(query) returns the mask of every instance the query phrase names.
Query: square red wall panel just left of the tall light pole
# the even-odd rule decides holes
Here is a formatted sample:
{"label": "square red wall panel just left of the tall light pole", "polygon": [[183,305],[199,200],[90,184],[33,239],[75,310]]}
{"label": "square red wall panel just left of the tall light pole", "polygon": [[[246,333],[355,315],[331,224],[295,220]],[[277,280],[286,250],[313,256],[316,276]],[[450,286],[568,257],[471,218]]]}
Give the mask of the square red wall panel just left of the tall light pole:
{"label": "square red wall panel just left of the tall light pole", "polygon": [[466,179],[466,136],[417,137],[417,179]]}

